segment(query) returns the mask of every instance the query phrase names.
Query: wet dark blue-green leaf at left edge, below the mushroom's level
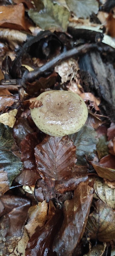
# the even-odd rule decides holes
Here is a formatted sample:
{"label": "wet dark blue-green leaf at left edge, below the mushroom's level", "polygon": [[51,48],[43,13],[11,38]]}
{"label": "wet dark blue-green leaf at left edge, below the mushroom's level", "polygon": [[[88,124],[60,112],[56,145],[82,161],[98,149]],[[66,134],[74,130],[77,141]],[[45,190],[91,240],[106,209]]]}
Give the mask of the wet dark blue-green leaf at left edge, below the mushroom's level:
{"label": "wet dark blue-green leaf at left edge, below the mushroom's level", "polygon": [[22,167],[20,158],[11,151],[14,142],[12,128],[0,124],[0,167],[7,172],[10,185]]}

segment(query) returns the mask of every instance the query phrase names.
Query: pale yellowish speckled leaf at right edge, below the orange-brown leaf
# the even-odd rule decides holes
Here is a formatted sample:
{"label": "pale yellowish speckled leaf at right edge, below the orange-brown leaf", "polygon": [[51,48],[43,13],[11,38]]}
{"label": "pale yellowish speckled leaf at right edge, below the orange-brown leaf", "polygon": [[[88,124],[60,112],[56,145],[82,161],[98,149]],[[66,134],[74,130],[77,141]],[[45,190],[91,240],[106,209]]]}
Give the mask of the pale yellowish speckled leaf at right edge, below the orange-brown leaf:
{"label": "pale yellowish speckled leaf at right edge, below the orange-brown leaf", "polygon": [[95,177],[94,189],[96,195],[108,206],[115,209],[115,189],[110,188],[103,179]]}

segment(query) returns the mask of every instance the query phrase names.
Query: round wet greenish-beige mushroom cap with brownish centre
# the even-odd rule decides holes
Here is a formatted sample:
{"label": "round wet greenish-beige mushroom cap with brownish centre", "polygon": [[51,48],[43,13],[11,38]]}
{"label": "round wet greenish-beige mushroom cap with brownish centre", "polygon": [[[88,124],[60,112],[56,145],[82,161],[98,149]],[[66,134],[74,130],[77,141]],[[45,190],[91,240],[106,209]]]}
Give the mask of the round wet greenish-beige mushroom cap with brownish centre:
{"label": "round wet greenish-beige mushroom cap with brownish centre", "polygon": [[30,112],[42,132],[56,137],[78,132],[88,117],[85,102],[70,91],[41,93],[30,106]]}

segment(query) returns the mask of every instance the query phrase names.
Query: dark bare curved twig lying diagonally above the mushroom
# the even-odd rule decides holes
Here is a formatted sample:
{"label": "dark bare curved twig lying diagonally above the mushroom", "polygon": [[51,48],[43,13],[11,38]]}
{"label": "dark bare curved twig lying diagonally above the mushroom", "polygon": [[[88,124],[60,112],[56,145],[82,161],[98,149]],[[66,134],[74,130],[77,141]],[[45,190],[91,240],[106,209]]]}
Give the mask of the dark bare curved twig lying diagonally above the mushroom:
{"label": "dark bare curved twig lying diagonally above the mushroom", "polygon": [[69,59],[71,57],[74,57],[74,56],[80,56],[81,54],[86,53],[86,52],[90,51],[91,49],[98,49],[98,45],[97,44],[83,44],[83,45],[81,45],[79,47],[75,47],[75,48],[73,48],[69,51],[66,51],[66,52],[64,51],[64,52],[60,53],[59,55],[57,55],[52,60],[48,61],[42,67],[36,68],[36,69],[34,69],[34,71],[26,73],[23,76],[23,79],[25,81],[32,82],[35,79],[37,79],[40,75],[42,75],[44,71],[47,71],[47,70],[50,70],[51,68],[54,68],[60,62],[62,62],[64,60],[67,60],[67,59]]}

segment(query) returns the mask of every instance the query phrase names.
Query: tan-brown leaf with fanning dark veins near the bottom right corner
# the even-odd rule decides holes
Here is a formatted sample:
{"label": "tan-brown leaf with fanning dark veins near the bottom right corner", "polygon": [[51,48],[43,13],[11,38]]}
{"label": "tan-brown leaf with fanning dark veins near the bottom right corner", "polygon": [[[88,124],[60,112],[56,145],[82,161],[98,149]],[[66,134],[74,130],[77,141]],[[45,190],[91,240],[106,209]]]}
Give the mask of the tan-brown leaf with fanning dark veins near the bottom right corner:
{"label": "tan-brown leaf with fanning dark veins near the bottom right corner", "polygon": [[115,237],[115,213],[107,204],[98,200],[96,209],[88,217],[85,233],[101,242],[110,242]]}

